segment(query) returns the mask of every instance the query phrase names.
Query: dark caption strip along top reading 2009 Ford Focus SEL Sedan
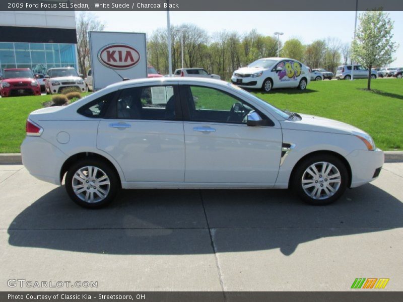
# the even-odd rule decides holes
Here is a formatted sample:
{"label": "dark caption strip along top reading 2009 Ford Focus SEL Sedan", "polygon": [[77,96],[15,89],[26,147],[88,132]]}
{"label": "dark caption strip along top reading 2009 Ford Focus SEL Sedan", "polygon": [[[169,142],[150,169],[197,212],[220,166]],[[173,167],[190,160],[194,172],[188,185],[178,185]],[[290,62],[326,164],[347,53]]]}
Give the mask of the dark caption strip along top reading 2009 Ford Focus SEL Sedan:
{"label": "dark caption strip along top reading 2009 Ford Focus SEL Sedan", "polygon": [[[402,0],[2,0],[0,11],[403,11]],[[0,13],[1,14],[1,13]]]}

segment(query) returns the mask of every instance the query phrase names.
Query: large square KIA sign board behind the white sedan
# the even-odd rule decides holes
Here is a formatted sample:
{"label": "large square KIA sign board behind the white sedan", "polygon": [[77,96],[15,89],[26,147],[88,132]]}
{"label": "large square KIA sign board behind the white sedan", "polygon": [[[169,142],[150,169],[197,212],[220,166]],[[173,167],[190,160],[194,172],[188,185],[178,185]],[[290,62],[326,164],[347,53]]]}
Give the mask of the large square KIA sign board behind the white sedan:
{"label": "large square KIA sign board behind the white sedan", "polygon": [[89,39],[94,90],[147,78],[146,34],[90,31]]}

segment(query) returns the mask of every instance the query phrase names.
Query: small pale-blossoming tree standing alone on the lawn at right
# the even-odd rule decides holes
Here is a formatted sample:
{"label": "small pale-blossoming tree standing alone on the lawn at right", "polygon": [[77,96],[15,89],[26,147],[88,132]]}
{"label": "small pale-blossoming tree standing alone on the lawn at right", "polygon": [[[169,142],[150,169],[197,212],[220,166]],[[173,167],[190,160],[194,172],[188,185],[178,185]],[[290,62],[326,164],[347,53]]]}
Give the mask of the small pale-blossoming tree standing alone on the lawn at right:
{"label": "small pale-blossoming tree standing alone on the lawn at right", "polygon": [[367,11],[359,16],[360,25],[351,45],[353,60],[368,68],[368,90],[371,89],[371,68],[390,64],[396,44],[392,41],[393,21],[382,11]]}

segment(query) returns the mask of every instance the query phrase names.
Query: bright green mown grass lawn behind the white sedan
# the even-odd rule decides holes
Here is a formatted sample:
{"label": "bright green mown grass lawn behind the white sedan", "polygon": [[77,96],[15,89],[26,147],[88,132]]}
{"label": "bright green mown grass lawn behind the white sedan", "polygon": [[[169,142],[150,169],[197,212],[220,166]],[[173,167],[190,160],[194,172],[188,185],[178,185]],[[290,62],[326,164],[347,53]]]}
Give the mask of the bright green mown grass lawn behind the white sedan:
{"label": "bright green mown grass lawn behind the white sedan", "polygon": [[[357,126],[371,134],[376,145],[384,150],[402,150],[403,80],[373,80],[371,86],[375,92],[361,90],[366,84],[366,80],[318,81],[311,82],[305,91],[279,89],[270,93],[252,92],[281,109],[324,116]],[[0,153],[20,152],[29,113],[43,108],[42,103],[50,99],[50,96],[0,99]],[[227,106],[227,102],[223,103],[223,109],[231,107]]]}

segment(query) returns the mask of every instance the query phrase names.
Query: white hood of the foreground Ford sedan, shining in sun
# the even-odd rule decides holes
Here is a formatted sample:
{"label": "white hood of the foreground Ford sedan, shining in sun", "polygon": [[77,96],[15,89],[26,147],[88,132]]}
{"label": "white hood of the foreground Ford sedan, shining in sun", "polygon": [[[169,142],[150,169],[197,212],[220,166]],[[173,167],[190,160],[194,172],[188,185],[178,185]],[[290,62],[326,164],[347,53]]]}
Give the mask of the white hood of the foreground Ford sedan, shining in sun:
{"label": "white hood of the foreground Ford sedan, shining in sun", "polygon": [[308,115],[308,114],[299,114],[299,115],[302,118],[300,121],[285,121],[283,124],[283,128],[294,130],[329,132],[338,134],[363,133],[368,135],[368,133],[366,133],[365,131],[340,121],[315,115]]}

